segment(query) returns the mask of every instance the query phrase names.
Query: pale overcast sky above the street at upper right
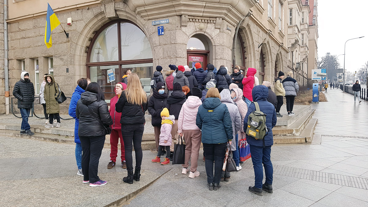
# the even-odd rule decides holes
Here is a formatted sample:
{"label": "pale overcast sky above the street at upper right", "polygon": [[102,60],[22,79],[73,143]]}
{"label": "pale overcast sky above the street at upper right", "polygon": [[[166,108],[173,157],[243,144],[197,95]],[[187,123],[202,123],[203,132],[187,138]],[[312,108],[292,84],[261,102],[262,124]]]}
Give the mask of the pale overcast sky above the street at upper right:
{"label": "pale overcast sky above the street at upper right", "polygon": [[[318,56],[344,54],[345,69],[355,71],[368,61],[368,1],[318,0]],[[344,56],[339,56],[341,68]]]}

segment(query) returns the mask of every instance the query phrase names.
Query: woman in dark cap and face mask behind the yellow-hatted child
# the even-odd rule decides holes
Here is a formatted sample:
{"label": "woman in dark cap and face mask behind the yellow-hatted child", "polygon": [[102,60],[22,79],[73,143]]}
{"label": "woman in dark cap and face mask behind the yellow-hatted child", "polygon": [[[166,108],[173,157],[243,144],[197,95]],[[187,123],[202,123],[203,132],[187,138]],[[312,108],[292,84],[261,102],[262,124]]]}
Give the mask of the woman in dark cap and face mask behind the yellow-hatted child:
{"label": "woman in dark cap and face mask behind the yellow-hatted child", "polygon": [[[156,151],[159,151],[160,143],[160,129],[161,129],[161,111],[167,105],[167,94],[165,93],[165,85],[162,82],[156,84],[156,88],[153,89],[153,94],[148,101],[148,113],[151,114],[151,124],[153,130],[155,131],[156,140]],[[166,153],[165,149],[162,151],[163,154]]]}

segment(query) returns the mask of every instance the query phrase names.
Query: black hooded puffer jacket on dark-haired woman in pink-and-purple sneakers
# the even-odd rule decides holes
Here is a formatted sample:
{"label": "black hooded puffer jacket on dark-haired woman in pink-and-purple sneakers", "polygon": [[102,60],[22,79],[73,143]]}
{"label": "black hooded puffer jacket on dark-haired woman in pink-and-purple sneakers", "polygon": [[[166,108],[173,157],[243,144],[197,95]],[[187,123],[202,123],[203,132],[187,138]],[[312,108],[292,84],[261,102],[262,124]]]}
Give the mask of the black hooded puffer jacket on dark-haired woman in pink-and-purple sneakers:
{"label": "black hooded puffer jacket on dark-haired woman in pink-and-purple sneakers", "polygon": [[89,91],[81,94],[81,99],[79,99],[77,108],[75,108],[75,115],[79,119],[79,137],[106,135],[105,128],[96,118],[106,126],[113,124],[107,103],[103,100],[97,101],[97,94]]}

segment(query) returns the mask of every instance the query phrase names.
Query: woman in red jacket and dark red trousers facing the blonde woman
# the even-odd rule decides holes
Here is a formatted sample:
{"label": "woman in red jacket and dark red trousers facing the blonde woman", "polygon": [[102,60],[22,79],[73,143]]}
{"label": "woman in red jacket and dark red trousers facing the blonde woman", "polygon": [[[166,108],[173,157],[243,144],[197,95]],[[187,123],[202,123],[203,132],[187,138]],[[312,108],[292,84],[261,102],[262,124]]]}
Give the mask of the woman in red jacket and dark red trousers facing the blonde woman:
{"label": "woman in red jacket and dark red trousers facing the blonde woman", "polygon": [[121,113],[115,111],[115,104],[119,100],[121,92],[127,88],[127,84],[125,83],[118,83],[115,85],[115,94],[116,96],[110,100],[110,116],[113,119],[113,124],[111,125],[111,134],[110,134],[110,145],[111,145],[111,152],[110,152],[110,162],[107,164],[107,169],[111,169],[115,166],[116,157],[117,157],[117,145],[119,143],[120,137],[120,144],[121,144],[121,167],[123,169],[127,168],[127,164],[125,164],[125,150],[124,150],[124,142],[123,137],[121,136]]}

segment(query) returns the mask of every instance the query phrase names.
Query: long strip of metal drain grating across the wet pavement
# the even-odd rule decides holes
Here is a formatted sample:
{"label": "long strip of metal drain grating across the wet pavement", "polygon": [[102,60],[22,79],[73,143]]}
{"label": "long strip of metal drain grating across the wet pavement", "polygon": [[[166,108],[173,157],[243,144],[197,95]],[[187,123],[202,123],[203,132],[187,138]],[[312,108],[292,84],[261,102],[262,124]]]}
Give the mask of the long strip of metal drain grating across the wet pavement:
{"label": "long strip of metal drain grating across the wet pavement", "polygon": [[[253,169],[253,165],[248,162],[245,166],[243,166],[243,168],[251,170]],[[273,165],[273,173],[276,175],[283,175],[287,177],[314,180],[323,183],[330,183],[335,185],[342,185],[368,190],[367,178],[358,178],[328,172],[319,172],[308,169],[293,168],[283,165]]]}

